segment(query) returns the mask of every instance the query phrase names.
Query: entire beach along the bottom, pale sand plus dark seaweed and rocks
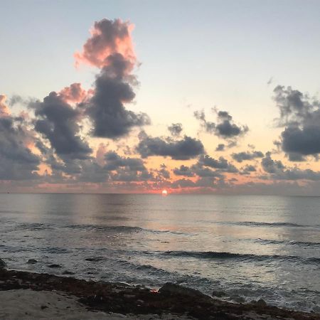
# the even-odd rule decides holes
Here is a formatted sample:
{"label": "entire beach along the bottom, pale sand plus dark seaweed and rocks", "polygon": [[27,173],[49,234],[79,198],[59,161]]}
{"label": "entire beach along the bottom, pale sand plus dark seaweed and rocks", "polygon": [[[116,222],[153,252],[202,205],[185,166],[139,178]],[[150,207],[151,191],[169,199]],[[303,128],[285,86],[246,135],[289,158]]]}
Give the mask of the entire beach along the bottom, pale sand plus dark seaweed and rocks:
{"label": "entire beach along the bottom, pale sand plus dark seaweed and rocks", "polygon": [[312,319],[320,314],[235,304],[195,289],[159,290],[53,274],[0,270],[0,319]]}

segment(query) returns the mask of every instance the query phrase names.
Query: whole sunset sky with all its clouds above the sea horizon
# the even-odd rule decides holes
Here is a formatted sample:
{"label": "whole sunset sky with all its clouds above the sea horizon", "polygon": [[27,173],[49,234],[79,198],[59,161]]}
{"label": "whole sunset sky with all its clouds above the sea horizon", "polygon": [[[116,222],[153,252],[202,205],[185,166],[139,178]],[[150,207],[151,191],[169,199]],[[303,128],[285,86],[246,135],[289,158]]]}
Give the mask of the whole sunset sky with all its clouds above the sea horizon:
{"label": "whole sunset sky with all its clouds above the sea horizon", "polygon": [[0,192],[320,196],[319,1],[0,5]]}

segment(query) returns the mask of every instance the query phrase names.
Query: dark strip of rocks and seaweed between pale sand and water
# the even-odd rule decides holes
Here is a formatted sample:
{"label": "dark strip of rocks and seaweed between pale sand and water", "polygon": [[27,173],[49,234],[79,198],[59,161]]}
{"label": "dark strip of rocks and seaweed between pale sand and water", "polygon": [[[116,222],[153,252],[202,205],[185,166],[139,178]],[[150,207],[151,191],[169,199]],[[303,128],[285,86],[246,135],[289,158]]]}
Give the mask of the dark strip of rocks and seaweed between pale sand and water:
{"label": "dark strip of rocks and seaweed between pale sand and water", "polygon": [[89,311],[124,314],[129,319],[130,316],[132,319],[140,319],[138,315],[143,314],[154,314],[160,318],[161,315],[171,314],[187,316],[185,319],[320,320],[320,314],[279,309],[267,306],[263,300],[251,304],[234,304],[213,299],[197,290],[177,284],[167,283],[156,291],[127,284],[6,270],[5,264],[0,263],[0,291],[14,289],[64,292],[76,297]]}

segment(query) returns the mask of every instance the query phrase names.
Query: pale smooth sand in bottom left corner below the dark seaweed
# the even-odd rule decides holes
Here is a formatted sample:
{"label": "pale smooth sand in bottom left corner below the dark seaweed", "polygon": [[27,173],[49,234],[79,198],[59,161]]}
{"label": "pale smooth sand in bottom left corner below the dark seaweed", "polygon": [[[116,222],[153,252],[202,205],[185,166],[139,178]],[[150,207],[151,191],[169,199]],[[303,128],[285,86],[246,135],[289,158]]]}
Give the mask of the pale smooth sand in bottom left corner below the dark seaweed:
{"label": "pale smooth sand in bottom left corner below the dark seaweed", "polygon": [[134,316],[87,311],[76,297],[63,292],[16,289],[0,291],[0,319],[4,320],[102,320],[102,319],[190,319],[185,316],[152,314]]}

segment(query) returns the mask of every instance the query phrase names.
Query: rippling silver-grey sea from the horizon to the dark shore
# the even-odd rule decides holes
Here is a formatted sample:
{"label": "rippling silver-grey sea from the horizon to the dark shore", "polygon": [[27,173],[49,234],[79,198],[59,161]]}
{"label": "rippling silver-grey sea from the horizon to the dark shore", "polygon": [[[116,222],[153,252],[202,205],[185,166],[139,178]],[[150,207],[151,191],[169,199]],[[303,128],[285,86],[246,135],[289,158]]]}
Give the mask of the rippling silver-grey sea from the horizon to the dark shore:
{"label": "rippling silver-grey sea from the horizon to the dark shore", "polygon": [[0,238],[15,269],[320,311],[320,198],[1,194]]}

